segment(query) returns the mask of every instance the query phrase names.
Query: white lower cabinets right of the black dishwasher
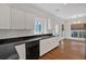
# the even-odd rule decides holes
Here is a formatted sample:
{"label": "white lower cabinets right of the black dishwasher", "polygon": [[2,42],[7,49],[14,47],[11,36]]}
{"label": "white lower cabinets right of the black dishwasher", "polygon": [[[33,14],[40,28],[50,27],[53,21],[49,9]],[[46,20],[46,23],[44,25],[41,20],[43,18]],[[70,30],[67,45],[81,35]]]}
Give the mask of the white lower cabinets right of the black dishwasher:
{"label": "white lower cabinets right of the black dishwasher", "polygon": [[40,56],[44,55],[45,53],[51,51],[53,48],[60,46],[57,37],[40,40],[39,44],[40,44],[39,46],[39,49],[40,49],[39,55]]}

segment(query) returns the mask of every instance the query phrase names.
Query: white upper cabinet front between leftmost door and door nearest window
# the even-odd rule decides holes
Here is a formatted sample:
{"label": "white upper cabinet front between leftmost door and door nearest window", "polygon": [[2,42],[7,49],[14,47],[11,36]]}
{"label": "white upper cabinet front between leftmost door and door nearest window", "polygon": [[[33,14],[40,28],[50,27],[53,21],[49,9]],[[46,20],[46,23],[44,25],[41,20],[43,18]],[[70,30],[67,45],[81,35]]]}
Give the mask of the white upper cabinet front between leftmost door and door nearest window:
{"label": "white upper cabinet front between leftmost door and door nearest window", "polygon": [[12,29],[25,29],[25,12],[17,9],[11,9]]}

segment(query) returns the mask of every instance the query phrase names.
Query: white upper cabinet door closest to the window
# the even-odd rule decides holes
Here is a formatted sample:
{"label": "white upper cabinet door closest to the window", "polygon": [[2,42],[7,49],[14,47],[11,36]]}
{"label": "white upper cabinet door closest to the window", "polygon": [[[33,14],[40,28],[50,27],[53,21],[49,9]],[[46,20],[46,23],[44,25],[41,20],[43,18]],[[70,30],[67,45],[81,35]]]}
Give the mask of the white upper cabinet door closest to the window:
{"label": "white upper cabinet door closest to the window", "polygon": [[26,29],[34,29],[35,27],[35,15],[26,13]]}

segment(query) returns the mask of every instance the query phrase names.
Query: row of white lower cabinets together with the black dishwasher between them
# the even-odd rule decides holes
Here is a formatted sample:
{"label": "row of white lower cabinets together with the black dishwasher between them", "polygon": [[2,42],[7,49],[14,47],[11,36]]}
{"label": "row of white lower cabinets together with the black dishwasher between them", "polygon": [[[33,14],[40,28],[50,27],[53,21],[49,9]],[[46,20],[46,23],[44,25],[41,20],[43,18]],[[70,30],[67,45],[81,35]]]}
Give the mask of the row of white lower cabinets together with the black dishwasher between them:
{"label": "row of white lower cabinets together with the black dishwasher between them", "polygon": [[60,46],[58,38],[47,38],[34,40],[23,44],[15,46],[20,60],[37,60],[39,56]]}

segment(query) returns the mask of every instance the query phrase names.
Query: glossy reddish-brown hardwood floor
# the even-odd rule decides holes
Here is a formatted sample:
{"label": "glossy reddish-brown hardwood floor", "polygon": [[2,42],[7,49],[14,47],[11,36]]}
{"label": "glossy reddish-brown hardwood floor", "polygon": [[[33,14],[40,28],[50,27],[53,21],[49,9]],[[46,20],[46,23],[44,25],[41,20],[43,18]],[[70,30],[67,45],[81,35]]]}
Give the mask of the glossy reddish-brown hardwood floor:
{"label": "glossy reddish-brown hardwood floor", "polygon": [[85,60],[85,42],[65,39],[61,46],[46,53],[39,60]]}

